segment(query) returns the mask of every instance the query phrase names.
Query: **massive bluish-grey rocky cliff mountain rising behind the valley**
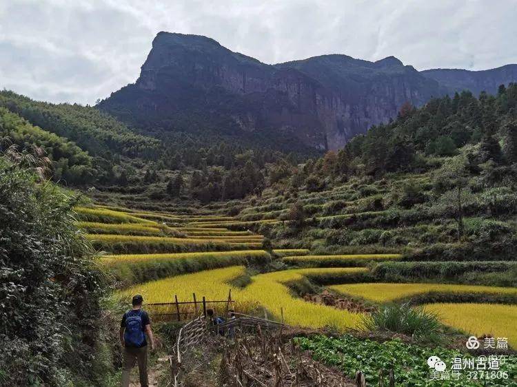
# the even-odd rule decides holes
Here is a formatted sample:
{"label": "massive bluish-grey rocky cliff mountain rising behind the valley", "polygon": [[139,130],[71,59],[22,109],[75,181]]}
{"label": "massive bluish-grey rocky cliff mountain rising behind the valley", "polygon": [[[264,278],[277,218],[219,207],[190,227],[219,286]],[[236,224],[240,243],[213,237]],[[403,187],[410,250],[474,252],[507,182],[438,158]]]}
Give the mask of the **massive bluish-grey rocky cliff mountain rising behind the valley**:
{"label": "massive bluish-grey rocky cliff mountain rising behind the valley", "polygon": [[278,134],[338,149],[396,116],[403,103],[422,105],[454,90],[454,75],[441,72],[418,72],[394,57],[346,55],[266,65],[205,36],[160,32],[136,83],[99,108],[152,132]]}

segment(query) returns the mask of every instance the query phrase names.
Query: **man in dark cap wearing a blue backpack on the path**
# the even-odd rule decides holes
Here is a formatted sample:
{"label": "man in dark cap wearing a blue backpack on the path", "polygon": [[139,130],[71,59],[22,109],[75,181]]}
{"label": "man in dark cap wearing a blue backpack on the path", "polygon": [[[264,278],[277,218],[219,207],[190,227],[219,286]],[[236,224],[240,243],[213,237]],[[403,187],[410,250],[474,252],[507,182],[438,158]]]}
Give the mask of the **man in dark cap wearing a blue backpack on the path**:
{"label": "man in dark cap wearing a blue backpack on the path", "polygon": [[135,295],[132,300],[133,308],[124,313],[120,325],[120,341],[124,348],[122,387],[128,387],[130,372],[134,363],[138,362],[140,386],[148,387],[148,335],[151,351],[154,350],[154,339],[151,331],[151,321],[147,312],[142,310],[143,297]]}

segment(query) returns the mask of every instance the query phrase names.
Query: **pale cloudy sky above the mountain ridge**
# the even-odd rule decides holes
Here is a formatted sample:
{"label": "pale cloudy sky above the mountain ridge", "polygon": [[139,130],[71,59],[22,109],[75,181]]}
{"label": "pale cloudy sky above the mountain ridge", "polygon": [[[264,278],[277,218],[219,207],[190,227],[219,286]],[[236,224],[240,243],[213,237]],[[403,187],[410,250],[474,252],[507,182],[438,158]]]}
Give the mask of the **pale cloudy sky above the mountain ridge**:
{"label": "pale cloudy sky above the mountain ridge", "polygon": [[264,63],[321,54],[417,70],[517,63],[517,0],[0,0],[0,88],[94,104],[134,83],[160,31]]}

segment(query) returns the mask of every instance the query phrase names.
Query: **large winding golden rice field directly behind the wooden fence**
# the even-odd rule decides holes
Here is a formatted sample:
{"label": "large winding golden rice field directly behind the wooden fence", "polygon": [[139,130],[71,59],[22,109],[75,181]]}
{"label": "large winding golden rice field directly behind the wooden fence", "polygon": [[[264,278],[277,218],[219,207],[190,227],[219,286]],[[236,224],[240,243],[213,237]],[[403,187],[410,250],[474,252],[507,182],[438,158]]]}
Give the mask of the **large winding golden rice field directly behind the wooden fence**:
{"label": "large winding golden rice field directly behind the wooden fence", "polygon": [[252,277],[252,282],[244,289],[229,284],[244,273],[243,266],[201,271],[146,282],[121,291],[120,294],[128,298],[135,293],[140,293],[148,303],[172,302],[174,294],[178,295],[179,300],[192,300],[192,293],[196,293],[198,298],[205,296],[207,300],[225,300],[228,289],[232,289],[236,310],[247,312],[260,305],[273,313],[276,318],[280,318],[283,309],[287,324],[312,328],[334,326],[343,329],[356,327],[360,323],[360,315],[356,313],[305,302],[301,298],[294,297],[283,281],[303,278],[301,273],[278,274],[281,273],[278,272],[255,275]]}

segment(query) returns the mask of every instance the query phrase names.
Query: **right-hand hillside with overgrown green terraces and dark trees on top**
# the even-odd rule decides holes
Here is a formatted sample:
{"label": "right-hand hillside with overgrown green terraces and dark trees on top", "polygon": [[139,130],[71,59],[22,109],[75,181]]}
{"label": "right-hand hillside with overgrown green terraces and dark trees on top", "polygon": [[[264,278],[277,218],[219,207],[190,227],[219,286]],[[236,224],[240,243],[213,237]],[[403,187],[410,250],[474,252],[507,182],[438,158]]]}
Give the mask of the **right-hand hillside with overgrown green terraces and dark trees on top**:
{"label": "right-hand hillside with overgrown green terraces and dark trees on top", "polygon": [[337,153],[270,166],[261,198],[232,212],[285,247],[513,260],[516,104],[510,85],[496,96],[463,92],[420,109],[405,105],[396,121]]}

